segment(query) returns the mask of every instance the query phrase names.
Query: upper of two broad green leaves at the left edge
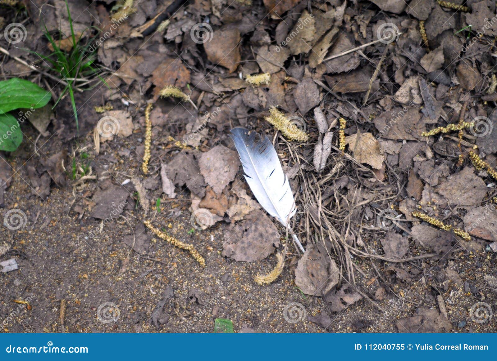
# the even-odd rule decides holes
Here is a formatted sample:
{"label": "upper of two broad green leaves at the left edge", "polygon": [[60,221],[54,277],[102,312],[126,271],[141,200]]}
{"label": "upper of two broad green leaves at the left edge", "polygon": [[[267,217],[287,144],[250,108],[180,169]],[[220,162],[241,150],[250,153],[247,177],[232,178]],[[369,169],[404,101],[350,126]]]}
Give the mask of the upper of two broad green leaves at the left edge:
{"label": "upper of two broad green leaves at the left edge", "polygon": [[0,114],[18,108],[42,108],[52,95],[30,81],[12,78],[0,81]]}

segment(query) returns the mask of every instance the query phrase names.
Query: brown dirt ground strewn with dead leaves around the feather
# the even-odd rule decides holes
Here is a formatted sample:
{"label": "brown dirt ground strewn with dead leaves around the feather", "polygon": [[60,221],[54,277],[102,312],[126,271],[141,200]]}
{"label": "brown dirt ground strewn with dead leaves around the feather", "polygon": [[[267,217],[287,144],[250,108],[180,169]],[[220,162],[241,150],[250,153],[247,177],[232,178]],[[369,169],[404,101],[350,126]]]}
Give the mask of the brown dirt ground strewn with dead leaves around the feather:
{"label": "brown dirt ground strewn with dead leaves around the feather", "polygon": [[[0,151],[2,332],[497,331],[493,1],[142,0],[110,20],[129,2],[69,1],[77,32],[103,29],[82,36],[106,83],[85,75],[77,127],[67,93],[51,109],[61,75],[23,63],[47,65],[23,50],[50,54],[42,20],[69,34],[64,1],[0,1],[26,35],[0,38],[0,80],[52,93]],[[275,146],[304,254],[255,201],[235,126]]]}

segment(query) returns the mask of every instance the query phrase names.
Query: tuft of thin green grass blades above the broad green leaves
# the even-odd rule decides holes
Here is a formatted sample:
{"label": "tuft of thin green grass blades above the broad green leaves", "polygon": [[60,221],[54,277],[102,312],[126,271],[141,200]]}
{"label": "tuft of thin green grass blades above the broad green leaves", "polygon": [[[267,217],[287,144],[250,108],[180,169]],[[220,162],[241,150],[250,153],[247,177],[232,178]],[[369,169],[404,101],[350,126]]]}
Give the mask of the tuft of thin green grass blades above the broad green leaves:
{"label": "tuft of thin green grass blades above the broad green leaves", "polygon": [[[55,71],[58,73],[60,78],[66,82],[64,90],[61,92],[59,99],[55,103],[54,107],[57,106],[59,101],[66,95],[69,94],[71,98],[71,104],[73,108],[74,118],[76,120],[76,128],[79,132],[79,121],[78,112],[76,107],[76,101],[74,98],[75,90],[83,91],[90,90],[98,85],[98,81],[102,81],[107,85],[105,80],[100,76],[102,70],[95,64],[97,59],[96,48],[93,47],[94,40],[96,36],[90,37],[87,41],[83,42],[83,34],[91,29],[96,29],[91,26],[86,28],[81,34],[77,35],[74,32],[73,18],[71,17],[71,12],[69,10],[69,4],[66,0],[66,9],[69,19],[69,24],[71,27],[70,39],[70,50],[64,50],[61,48],[62,40],[66,36],[60,31],[59,39],[56,40],[48,31],[47,26],[44,24],[44,35],[50,42],[54,51],[47,56],[42,56],[40,53],[34,52],[41,60],[48,62],[51,66],[48,68],[49,71]],[[65,47],[64,47],[65,48]],[[93,85],[91,85],[93,83]],[[79,85],[79,86],[78,86]],[[52,108],[52,109],[53,109]]]}

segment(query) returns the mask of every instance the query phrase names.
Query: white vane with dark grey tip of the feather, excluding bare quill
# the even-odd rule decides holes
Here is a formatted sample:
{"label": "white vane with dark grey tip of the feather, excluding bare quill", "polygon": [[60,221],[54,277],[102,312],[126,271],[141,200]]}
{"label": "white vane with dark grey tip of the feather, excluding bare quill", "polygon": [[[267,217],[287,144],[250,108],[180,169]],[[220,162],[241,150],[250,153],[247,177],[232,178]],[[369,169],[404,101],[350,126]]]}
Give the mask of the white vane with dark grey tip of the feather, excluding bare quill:
{"label": "white vane with dark grey tip of the feather, excluding bare quill", "polygon": [[230,136],[253,195],[267,213],[288,227],[288,220],[296,212],[295,202],[288,178],[269,138],[246,128],[234,128]]}

